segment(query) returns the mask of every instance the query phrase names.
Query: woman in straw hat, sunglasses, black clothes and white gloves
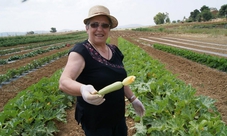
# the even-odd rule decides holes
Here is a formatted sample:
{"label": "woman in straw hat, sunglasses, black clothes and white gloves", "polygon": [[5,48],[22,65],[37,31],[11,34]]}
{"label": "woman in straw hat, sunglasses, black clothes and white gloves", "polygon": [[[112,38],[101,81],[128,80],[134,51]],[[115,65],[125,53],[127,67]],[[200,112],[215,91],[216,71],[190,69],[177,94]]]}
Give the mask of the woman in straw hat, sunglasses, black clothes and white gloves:
{"label": "woman in straw hat, sunglasses, black clothes and white gloves", "polygon": [[110,29],[117,19],[101,5],[92,7],[84,19],[88,40],[75,45],[60,77],[60,90],[77,96],[75,118],[86,136],[127,136],[125,100],[132,102],[136,113],[144,114],[144,106],[129,86],[100,96],[97,90],[127,77],[123,55],[115,45],[106,44]]}

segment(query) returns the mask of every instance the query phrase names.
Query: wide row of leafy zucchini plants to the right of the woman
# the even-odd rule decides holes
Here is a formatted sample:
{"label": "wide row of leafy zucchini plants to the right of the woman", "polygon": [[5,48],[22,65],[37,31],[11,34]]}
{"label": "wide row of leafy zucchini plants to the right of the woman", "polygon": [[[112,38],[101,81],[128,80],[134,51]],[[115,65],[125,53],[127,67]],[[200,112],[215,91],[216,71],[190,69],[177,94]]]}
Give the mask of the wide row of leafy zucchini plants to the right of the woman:
{"label": "wide row of leafy zucchini plants to the right of the woman", "polygon": [[131,88],[146,108],[145,116],[139,118],[131,105],[127,107],[127,115],[140,121],[135,125],[136,136],[227,134],[214,99],[196,96],[194,88],[177,79],[136,45],[122,38],[118,44],[125,54],[128,75],[137,77]]}

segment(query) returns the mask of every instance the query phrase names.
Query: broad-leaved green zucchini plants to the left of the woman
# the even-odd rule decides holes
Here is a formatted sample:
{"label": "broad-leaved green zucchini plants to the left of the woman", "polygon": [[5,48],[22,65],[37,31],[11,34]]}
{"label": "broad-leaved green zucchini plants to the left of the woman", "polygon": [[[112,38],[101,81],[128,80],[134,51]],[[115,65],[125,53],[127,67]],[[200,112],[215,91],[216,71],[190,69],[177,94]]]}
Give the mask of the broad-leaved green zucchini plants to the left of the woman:
{"label": "broad-leaved green zucchini plants to the left of the woman", "polygon": [[11,99],[0,113],[1,136],[50,136],[58,132],[55,121],[66,123],[65,109],[74,97],[58,90],[61,70],[43,78]]}

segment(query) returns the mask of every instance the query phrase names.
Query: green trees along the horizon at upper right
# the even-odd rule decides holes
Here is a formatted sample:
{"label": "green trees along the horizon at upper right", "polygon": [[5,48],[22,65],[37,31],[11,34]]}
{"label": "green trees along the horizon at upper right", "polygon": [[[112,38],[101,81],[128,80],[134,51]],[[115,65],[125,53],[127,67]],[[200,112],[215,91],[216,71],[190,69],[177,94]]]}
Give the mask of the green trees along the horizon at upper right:
{"label": "green trees along the horizon at upper right", "polygon": [[[216,8],[210,8],[206,5],[203,5],[200,10],[195,9],[190,12],[190,16],[188,18],[184,17],[183,20],[172,21],[172,23],[176,22],[202,22],[202,21],[210,21],[211,19],[216,18],[227,18],[227,4],[222,5],[219,10]],[[161,13],[159,12],[154,16],[155,24],[164,24],[170,23],[169,13]]]}

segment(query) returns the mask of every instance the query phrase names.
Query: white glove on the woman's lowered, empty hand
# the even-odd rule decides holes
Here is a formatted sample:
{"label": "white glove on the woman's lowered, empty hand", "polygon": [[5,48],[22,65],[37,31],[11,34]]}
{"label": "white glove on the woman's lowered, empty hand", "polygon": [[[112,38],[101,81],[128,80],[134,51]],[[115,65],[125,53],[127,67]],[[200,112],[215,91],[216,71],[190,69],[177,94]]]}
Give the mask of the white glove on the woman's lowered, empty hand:
{"label": "white glove on the woman's lowered, empty hand", "polygon": [[137,115],[139,115],[140,117],[144,116],[145,108],[144,108],[143,104],[141,103],[141,101],[138,98],[136,98],[132,102],[132,106],[135,109],[135,112],[136,112]]}

